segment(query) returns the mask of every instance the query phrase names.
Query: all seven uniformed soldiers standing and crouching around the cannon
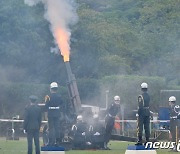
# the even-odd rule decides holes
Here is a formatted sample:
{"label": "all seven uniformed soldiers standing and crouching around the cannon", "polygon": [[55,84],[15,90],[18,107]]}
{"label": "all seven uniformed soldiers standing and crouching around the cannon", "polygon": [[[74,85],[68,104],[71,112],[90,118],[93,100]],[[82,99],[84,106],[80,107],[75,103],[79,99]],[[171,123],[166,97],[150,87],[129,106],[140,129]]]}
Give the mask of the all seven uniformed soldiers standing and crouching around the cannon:
{"label": "all seven uniformed soldiers standing and crouching around the cannon", "polygon": [[[150,96],[148,94],[148,84],[141,84],[142,94],[138,96],[137,113],[137,143],[143,144],[142,132],[145,129],[145,143],[150,139]],[[48,146],[60,146],[62,136],[60,135],[60,108],[63,105],[61,97],[57,94],[58,84],[50,84],[50,95],[45,97],[45,106],[43,111],[48,113]],[[32,154],[32,142],[34,139],[36,154],[40,154],[39,130],[41,127],[42,108],[37,105],[37,96],[30,96],[30,105],[25,109],[24,130],[27,133],[28,154]],[[177,119],[180,118],[179,106],[176,105],[176,98],[169,98],[170,105],[170,131],[172,139],[177,140]],[[100,121],[99,116],[95,114],[91,124],[85,123],[82,115],[77,115],[76,122],[72,125],[71,134],[74,147],[84,149],[86,146],[98,149],[109,149],[107,144],[111,138],[114,128],[115,117],[120,111],[120,96],[114,96],[113,103],[106,111],[105,122]]]}

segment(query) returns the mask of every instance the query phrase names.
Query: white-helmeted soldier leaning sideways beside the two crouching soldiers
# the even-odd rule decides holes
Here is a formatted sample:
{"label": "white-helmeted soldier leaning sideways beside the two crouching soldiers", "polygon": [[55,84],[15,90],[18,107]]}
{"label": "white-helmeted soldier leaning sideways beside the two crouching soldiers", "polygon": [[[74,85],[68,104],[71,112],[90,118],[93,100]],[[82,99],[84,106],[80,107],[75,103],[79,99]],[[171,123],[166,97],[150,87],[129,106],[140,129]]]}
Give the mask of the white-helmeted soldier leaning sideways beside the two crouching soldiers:
{"label": "white-helmeted soldier leaning sideways beside the two crouching soldiers", "polygon": [[120,111],[120,97],[114,96],[114,102],[108,108],[107,115],[105,118],[105,144],[104,144],[104,148],[107,150],[109,150],[109,148],[107,147],[107,144],[110,140],[111,132],[112,132],[113,127],[114,127],[115,116],[118,114],[119,111]]}

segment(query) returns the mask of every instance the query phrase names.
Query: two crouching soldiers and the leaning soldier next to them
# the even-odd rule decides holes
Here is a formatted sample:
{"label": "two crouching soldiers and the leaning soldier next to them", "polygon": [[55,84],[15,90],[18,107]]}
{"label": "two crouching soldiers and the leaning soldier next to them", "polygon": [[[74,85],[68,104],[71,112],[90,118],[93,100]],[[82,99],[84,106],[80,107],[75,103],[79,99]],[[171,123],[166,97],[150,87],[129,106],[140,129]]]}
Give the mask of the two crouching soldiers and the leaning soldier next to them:
{"label": "two crouching soldiers and the leaning soldier next to them", "polygon": [[106,111],[105,122],[99,119],[98,114],[93,116],[93,121],[90,124],[83,121],[82,115],[77,116],[77,123],[72,127],[75,147],[109,150],[107,144],[119,111],[120,97],[114,96],[113,103]]}

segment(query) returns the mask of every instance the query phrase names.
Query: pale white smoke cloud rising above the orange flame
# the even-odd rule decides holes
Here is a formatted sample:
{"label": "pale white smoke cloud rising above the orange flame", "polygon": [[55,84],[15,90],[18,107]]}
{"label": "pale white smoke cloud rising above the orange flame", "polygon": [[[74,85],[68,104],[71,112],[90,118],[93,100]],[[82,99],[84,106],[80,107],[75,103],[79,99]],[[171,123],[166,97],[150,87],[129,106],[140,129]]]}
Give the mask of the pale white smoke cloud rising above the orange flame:
{"label": "pale white smoke cloud rising above the orange flame", "polygon": [[42,2],[45,8],[44,17],[51,24],[53,35],[57,27],[63,28],[71,35],[70,26],[78,21],[74,0],[24,0],[24,3],[33,6]]}

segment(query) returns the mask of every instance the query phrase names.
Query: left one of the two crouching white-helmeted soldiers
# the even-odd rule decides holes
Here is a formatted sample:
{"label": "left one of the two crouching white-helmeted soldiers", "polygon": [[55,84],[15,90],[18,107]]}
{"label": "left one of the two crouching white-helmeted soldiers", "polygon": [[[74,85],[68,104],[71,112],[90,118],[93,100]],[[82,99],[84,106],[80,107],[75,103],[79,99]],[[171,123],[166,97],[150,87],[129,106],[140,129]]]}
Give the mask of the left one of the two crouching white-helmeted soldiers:
{"label": "left one of the two crouching white-helmeted soldiers", "polygon": [[77,123],[72,126],[73,144],[75,149],[86,148],[87,124],[83,122],[82,115],[77,116]]}

